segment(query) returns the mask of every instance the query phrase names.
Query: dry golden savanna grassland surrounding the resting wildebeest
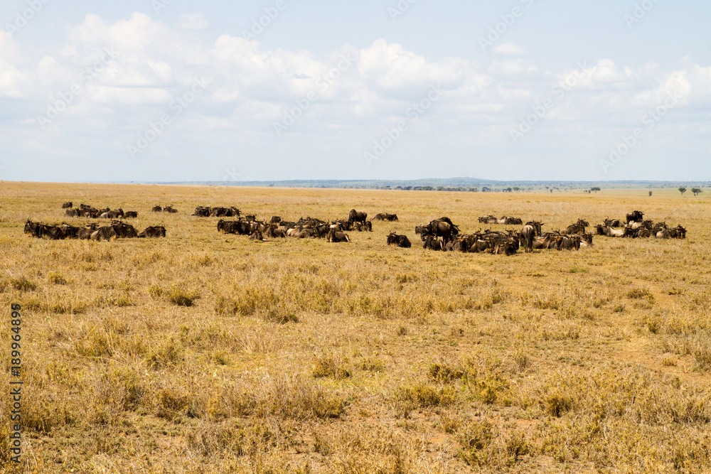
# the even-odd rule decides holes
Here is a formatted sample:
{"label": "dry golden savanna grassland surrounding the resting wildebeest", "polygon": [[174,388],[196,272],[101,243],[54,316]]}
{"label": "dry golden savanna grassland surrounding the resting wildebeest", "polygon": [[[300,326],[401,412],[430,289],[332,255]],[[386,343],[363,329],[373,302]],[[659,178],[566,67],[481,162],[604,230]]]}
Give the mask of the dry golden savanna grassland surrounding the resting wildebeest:
{"label": "dry golden savanna grassland surrounding the resting wildebeest", "polygon": [[[23,234],[28,218],[88,222],[63,217],[66,200],[137,210],[128,222],[167,237]],[[1,183],[0,465],[14,470],[20,303],[26,472],[710,472],[709,204],[661,190]],[[250,242],[191,217],[196,205],[400,221],[348,244]],[[503,257],[425,251],[414,232],[443,215],[464,232],[488,214],[555,230],[634,209],[688,238]],[[387,247],[391,230],[412,249]]]}

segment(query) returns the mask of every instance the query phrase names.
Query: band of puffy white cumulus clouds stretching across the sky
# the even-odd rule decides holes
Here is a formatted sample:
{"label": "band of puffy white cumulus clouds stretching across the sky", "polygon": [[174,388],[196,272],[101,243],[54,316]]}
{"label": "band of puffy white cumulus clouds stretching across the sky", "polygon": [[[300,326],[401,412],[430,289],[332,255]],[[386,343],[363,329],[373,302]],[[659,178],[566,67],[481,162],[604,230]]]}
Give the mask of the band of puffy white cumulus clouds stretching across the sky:
{"label": "band of puffy white cumulus clouds stretching across the sky", "polygon": [[[270,50],[228,33],[208,41],[183,31],[208,27],[199,13],[183,14],[174,25],[140,13],[114,22],[90,14],[68,29],[63,45],[44,49],[21,48],[0,31],[0,97],[26,101],[6,108],[5,120],[36,122],[37,114],[80,85],[61,116],[66,119],[53,122],[53,132],[80,133],[91,126],[92,133],[110,136],[113,143],[131,143],[201,77],[210,78],[208,87],[181,108],[171,127],[184,127],[185,136],[252,144],[269,144],[272,122],[312,97],[302,112],[306,118],[289,136],[337,131],[329,139],[360,146],[407,117],[409,107],[434,85],[442,95],[412,125],[420,127],[410,134],[413,140],[432,130],[438,140],[500,146],[508,139],[508,124],[545,98],[555,99],[545,121],[565,136],[579,136],[582,129],[589,134],[591,123],[603,133],[611,126],[609,117],[621,112],[634,124],[670,93],[681,97],[679,107],[711,104],[711,68],[692,58],[680,60],[675,70],[656,63],[630,68],[607,58],[542,70],[513,43],[498,45],[496,55],[479,64],[425,58],[382,38],[316,56],[308,50]],[[562,97],[552,93],[555,87],[564,91]],[[167,148],[164,144],[161,153]]]}

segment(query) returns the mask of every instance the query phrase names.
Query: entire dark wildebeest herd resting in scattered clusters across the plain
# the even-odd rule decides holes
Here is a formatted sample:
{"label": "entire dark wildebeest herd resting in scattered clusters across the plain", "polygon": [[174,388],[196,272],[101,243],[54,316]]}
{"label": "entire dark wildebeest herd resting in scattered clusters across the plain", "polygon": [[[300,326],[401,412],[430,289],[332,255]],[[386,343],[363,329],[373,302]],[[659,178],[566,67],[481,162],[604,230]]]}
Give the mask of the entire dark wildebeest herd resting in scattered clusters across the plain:
{"label": "entire dark wildebeest herd resting in scattered clusters across the plain", "polygon": [[[162,226],[146,227],[142,232],[137,232],[132,225],[117,217],[137,217],[137,212],[122,209],[110,210],[109,208],[97,210],[92,206],[82,204],[80,208],[73,209],[73,203],[62,205],[67,212],[75,212],[77,217],[104,217],[111,218],[111,225],[100,226],[91,223],[86,226],[46,225],[41,222],[27,220],[25,232],[33,237],[47,239],[93,239],[109,240],[113,238],[131,237],[165,237],[166,230]],[[178,212],[172,206],[156,205],[154,212]],[[68,214],[69,215],[69,214]],[[301,217],[298,221],[289,222],[279,216],[272,216],[269,220],[259,221],[255,215],[242,215],[235,206],[209,207],[198,206],[193,212],[197,217],[237,217],[235,220],[220,219],[217,223],[219,232],[225,234],[247,235],[251,240],[263,242],[266,239],[279,237],[306,237],[324,238],[327,242],[351,242],[346,232],[363,232],[373,230],[373,223],[368,220],[368,214],[352,209],[348,218],[343,220],[321,220],[314,217]],[[503,216],[501,219],[488,215],[479,217],[479,222],[498,225],[523,225],[521,230],[479,230],[464,234],[459,230],[449,217],[440,217],[430,221],[427,225],[416,226],[415,234],[422,239],[422,247],[430,250],[452,252],[488,252],[492,254],[513,255],[523,246],[525,252],[534,249],[569,249],[577,250],[580,247],[592,247],[593,235],[607,237],[656,237],[660,239],[683,239],[686,229],[681,225],[668,227],[665,222],[644,220],[644,213],[638,210],[629,212],[626,220],[606,218],[601,225],[594,226],[593,232],[586,232],[589,222],[579,219],[565,230],[542,232],[544,225],[540,221],[530,221],[523,225],[523,220],[518,217]],[[373,217],[378,221],[397,221],[397,215],[381,212]],[[626,222],[623,224],[623,222]],[[412,243],[406,235],[390,232],[387,235],[387,244],[397,247],[410,248]]]}

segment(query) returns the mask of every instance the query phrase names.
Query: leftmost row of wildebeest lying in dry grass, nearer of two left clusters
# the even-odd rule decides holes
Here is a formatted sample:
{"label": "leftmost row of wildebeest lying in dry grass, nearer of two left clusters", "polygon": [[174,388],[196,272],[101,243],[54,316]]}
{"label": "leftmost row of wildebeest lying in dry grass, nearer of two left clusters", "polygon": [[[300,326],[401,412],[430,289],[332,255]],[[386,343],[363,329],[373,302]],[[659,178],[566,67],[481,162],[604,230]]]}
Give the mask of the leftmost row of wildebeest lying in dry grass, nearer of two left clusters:
{"label": "leftmost row of wildebeest lying in dry grass, nearer of two left clusters", "polygon": [[41,222],[25,222],[25,233],[32,237],[50,240],[85,239],[85,240],[110,240],[129,239],[132,237],[165,237],[166,229],[161,226],[146,227],[141,232],[136,232],[134,227],[120,220],[112,220],[111,225],[100,226],[92,222],[86,226],[77,225],[47,225]]}

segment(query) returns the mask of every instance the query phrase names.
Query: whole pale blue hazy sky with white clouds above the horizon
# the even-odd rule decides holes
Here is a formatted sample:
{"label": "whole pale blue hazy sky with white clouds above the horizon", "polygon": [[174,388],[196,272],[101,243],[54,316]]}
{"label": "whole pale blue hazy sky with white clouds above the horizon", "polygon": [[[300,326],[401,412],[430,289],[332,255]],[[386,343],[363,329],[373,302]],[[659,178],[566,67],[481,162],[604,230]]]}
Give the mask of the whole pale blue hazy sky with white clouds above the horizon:
{"label": "whole pale blue hazy sky with white clouds above the horizon", "polygon": [[701,0],[4,0],[0,179],[711,180]]}

